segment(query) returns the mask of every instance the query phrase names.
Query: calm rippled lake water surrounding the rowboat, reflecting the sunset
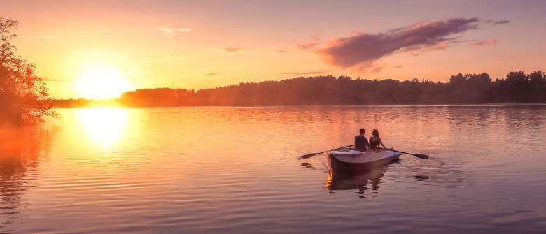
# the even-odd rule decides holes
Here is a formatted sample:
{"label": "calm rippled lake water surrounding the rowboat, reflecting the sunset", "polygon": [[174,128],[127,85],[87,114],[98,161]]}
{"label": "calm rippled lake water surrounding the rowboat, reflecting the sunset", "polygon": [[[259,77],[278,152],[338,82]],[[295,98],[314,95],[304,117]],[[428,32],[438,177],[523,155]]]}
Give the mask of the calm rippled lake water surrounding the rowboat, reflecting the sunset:
{"label": "calm rippled lake water surrounding the rowboat, reflecting the sunset", "polygon": [[[546,106],[60,109],[0,131],[0,233],[544,233]],[[329,173],[379,129],[402,156]]]}

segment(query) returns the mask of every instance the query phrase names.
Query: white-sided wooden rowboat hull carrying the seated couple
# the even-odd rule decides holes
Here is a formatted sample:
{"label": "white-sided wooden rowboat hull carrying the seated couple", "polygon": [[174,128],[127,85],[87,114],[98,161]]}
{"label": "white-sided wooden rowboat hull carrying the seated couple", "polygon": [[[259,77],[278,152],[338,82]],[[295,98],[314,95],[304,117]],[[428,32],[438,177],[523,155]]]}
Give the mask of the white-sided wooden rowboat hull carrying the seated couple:
{"label": "white-sided wooden rowboat hull carrying the seated couple", "polygon": [[375,168],[398,161],[400,152],[377,149],[359,151],[356,149],[337,149],[326,152],[328,166],[334,170],[345,168]]}

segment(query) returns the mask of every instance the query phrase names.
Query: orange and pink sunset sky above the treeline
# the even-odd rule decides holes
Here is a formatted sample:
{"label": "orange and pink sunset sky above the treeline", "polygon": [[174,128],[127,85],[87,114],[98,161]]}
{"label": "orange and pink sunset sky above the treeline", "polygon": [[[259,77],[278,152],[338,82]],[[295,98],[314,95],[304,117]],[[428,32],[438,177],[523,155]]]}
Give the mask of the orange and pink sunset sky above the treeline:
{"label": "orange and pink sunset sky above the treeline", "polygon": [[[1,1],[53,98],[545,70],[546,1]],[[96,95],[102,92],[106,96]]]}

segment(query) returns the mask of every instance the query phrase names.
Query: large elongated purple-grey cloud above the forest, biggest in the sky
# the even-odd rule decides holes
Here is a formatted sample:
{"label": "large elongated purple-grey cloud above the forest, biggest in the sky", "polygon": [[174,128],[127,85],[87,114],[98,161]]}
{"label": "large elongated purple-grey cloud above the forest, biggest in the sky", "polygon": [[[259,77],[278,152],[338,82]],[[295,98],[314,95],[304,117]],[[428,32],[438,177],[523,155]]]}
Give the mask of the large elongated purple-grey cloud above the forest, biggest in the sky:
{"label": "large elongated purple-grey cloud above the forest, biggest in the sky", "polygon": [[332,66],[348,68],[373,62],[397,51],[443,50],[457,40],[456,34],[477,29],[479,19],[451,18],[421,22],[379,34],[354,34],[333,38],[316,52]]}

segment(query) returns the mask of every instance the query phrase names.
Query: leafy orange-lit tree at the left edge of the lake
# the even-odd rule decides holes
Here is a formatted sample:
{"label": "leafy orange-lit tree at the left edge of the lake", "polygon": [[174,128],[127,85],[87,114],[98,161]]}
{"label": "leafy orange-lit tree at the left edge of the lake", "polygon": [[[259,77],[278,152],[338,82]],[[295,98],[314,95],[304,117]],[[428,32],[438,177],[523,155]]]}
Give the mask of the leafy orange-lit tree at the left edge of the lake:
{"label": "leafy orange-lit tree at the left edge of the lake", "polygon": [[19,22],[0,17],[0,124],[33,124],[51,110],[48,88],[34,72],[34,64],[15,54],[11,30]]}

